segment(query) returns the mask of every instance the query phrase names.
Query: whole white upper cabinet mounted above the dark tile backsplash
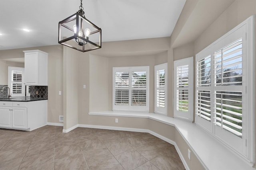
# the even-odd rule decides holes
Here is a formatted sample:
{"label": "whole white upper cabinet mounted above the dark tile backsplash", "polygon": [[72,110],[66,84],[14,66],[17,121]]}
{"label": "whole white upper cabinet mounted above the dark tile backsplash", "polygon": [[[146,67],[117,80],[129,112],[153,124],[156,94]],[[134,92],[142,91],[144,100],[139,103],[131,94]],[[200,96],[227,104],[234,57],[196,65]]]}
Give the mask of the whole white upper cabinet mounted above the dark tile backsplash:
{"label": "whole white upper cabinet mounted above the dark tile backsplash", "polygon": [[40,50],[23,52],[25,53],[25,84],[47,86],[48,53]]}

